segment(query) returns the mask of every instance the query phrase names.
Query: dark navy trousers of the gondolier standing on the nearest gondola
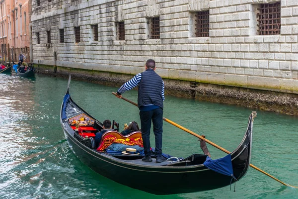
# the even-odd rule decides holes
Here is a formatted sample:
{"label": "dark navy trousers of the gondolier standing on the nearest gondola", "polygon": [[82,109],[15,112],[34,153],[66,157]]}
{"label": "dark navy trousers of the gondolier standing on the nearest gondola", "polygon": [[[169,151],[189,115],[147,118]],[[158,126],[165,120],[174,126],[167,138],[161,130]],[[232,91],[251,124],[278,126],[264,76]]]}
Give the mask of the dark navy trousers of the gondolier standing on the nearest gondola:
{"label": "dark navy trousers of the gondolier standing on the nearest gondola", "polygon": [[150,128],[151,121],[153,123],[153,132],[155,135],[155,153],[161,155],[162,146],[162,108],[156,108],[149,111],[140,111],[142,139],[144,144],[145,155],[151,155],[150,153]]}

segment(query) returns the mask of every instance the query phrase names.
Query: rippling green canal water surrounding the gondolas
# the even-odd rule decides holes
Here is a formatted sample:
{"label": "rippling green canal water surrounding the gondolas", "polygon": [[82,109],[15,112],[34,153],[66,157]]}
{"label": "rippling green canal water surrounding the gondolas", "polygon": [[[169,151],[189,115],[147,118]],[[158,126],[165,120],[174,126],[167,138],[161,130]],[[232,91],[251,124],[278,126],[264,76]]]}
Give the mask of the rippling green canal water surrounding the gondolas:
{"label": "rippling green canal water surrounding the gondolas", "polygon": [[[252,168],[236,183],[236,192],[224,187],[155,196],[120,185],[93,172],[70,150],[59,122],[67,80],[1,74],[0,85],[0,199],[298,199],[297,189]],[[100,121],[115,119],[121,128],[130,121],[140,122],[137,107],[111,94],[117,88],[72,81],[70,91],[73,99]],[[137,91],[124,96],[136,101]],[[170,96],[164,102],[165,117],[206,135],[229,151],[241,142],[251,111]],[[152,134],[151,138],[154,143]],[[197,138],[164,122],[164,153],[186,157],[201,153],[199,145]],[[257,111],[252,145],[252,164],[298,186],[298,117]],[[213,159],[225,155],[208,147]],[[142,184],[138,176],[131,178]],[[164,185],[164,189],[171,188]]]}

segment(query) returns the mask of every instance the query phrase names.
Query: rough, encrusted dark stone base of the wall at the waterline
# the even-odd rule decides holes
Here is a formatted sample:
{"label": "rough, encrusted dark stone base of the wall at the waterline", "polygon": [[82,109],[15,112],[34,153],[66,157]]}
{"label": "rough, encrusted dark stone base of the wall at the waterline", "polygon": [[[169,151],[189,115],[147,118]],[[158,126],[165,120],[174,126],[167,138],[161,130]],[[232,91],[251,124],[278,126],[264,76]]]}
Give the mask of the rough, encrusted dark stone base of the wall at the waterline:
{"label": "rough, encrusted dark stone base of the wall at the waterline", "polygon": [[[47,65],[35,66],[38,73],[51,76],[103,84],[112,87],[120,87],[133,75],[102,72],[94,70],[54,67]],[[197,83],[197,87],[191,87],[189,81],[164,79],[166,95],[172,95],[195,100],[206,100],[217,103],[241,105],[250,108],[279,112],[290,115],[298,115],[298,95],[286,94],[274,91],[262,91],[241,87],[229,87]]]}

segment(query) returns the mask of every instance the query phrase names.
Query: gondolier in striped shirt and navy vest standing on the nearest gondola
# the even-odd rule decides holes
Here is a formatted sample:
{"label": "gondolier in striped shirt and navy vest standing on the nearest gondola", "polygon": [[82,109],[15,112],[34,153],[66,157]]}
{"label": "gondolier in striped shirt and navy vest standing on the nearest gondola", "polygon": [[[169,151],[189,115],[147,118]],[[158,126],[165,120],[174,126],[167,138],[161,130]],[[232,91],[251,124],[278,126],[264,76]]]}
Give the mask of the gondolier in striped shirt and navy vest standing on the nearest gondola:
{"label": "gondolier in striped shirt and navy vest standing on the nearest gondola", "polygon": [[144,162],[151,162],[150,151],[150,128],[153,123],[153,132],[155,135],[156,163],[165,161],[161,155],[162,150],[162,114],[164,101],[164,82],[161,77],[155,73],[155,61],[149,59],[145,65],[145,71],[137,74],[133,79],[121,86],[117,91],[117,97],[139,86],[138,106],[140,109],[142,138],[144,143],[145,157]]}

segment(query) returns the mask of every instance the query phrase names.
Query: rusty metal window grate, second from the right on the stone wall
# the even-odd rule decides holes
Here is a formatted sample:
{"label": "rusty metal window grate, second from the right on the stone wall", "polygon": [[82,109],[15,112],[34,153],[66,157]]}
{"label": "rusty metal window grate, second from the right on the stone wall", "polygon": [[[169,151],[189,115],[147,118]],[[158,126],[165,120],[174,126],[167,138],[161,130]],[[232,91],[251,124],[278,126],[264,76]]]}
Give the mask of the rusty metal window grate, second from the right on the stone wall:
{"label": "rusty metal window grate, second from the right on the stone wall", "polygon": [[209,10],[199,11],[196,17],[196,36],[209,37]]}

